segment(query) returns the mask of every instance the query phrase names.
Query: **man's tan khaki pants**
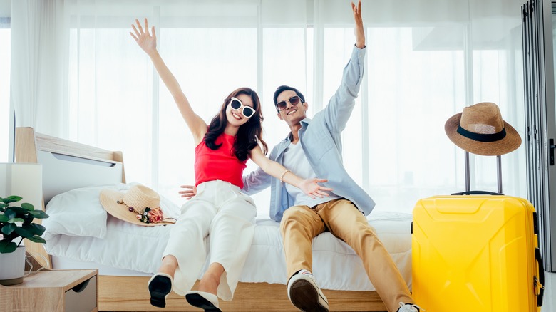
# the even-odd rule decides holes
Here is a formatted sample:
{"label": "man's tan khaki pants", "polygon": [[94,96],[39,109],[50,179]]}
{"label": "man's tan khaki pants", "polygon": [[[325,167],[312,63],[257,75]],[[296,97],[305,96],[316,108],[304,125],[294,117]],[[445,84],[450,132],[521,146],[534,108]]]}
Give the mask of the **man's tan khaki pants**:
{"label": "man's tan khaki pants", "polygon": [[312,271],[313,237],[329,231],[359,255],[388,311],[397,311],[400,302],[414,302],[406,281],[374,228],[349,200],[334,199],[313,208],[289,207],[284,212],[280,230],[284,239],[288,279],[301,269]]}

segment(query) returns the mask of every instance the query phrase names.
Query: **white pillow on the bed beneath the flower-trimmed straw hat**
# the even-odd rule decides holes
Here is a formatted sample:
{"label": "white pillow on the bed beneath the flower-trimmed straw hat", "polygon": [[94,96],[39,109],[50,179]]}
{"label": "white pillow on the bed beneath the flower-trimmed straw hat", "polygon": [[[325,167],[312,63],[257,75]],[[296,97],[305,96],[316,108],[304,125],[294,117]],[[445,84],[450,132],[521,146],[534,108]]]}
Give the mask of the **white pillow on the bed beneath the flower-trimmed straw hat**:
{"label": "white pillow on the bed beneath the flower-trimmed straw hat", "polygon": [[[117,183],[97,187],[83,187],[58,194],[46,205],[50,216],[42,220],[46,227],[43,238],[63,234],[68,236],[92,236],[103,239],[106,236],[107,218],[113,218],[102,207],[100,196],[103,189],[125,191],[138,183]],[[170,200],[160,197],[160,209],[165,217],[180,215],[180,207]]]}

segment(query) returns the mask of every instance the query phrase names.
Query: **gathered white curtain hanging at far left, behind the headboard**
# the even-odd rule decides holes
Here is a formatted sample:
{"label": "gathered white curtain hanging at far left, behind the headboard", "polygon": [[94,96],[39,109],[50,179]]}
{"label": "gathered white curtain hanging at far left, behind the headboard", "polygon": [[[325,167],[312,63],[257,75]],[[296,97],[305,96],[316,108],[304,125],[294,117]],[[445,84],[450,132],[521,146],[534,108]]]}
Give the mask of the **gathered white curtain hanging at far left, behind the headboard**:
{"label": "gathered white curtain hanging at far left, behind the headboard", "polygon": [[65,21],[63,0],[11,1],[11,103],[18,126],[65,134]]}

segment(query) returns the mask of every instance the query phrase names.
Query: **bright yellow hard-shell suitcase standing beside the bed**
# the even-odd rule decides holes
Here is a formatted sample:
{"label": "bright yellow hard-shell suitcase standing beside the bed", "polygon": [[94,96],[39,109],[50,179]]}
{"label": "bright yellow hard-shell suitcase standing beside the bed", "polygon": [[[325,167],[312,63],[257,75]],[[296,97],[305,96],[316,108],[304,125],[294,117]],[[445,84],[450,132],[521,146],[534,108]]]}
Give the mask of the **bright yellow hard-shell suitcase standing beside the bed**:
{"label": "bright yellow hard-shell suitcase standing beside the bed", "polygon": [[540,311],[535,208],[503,195],[438,196],[413,209],[413,296],[427,312]]}

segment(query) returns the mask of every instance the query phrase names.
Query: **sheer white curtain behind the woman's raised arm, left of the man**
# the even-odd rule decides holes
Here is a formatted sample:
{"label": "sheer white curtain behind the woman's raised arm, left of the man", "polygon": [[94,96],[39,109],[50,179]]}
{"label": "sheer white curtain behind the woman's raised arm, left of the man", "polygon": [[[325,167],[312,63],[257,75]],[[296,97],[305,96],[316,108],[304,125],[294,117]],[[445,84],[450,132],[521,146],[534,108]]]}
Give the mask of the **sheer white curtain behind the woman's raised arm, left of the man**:
{"label": "sheer white curtain behind the woman's raised arm, left of the man", "polygon": [[[269,147],[287,135],[272,93],[278,83],[307,89],[304,1],[66,5],[71,12],[69,137],[123,150],[128,181],[153,187],[177,204],[185,202],[179,186],[195,182],[192,137],[150,59],[129,35],[135,18],[147,17],[156,27],[160,54],[207,123],[232,90],[247,86],[262,99]],[[267,215],[268,192],[257,200]]]}

